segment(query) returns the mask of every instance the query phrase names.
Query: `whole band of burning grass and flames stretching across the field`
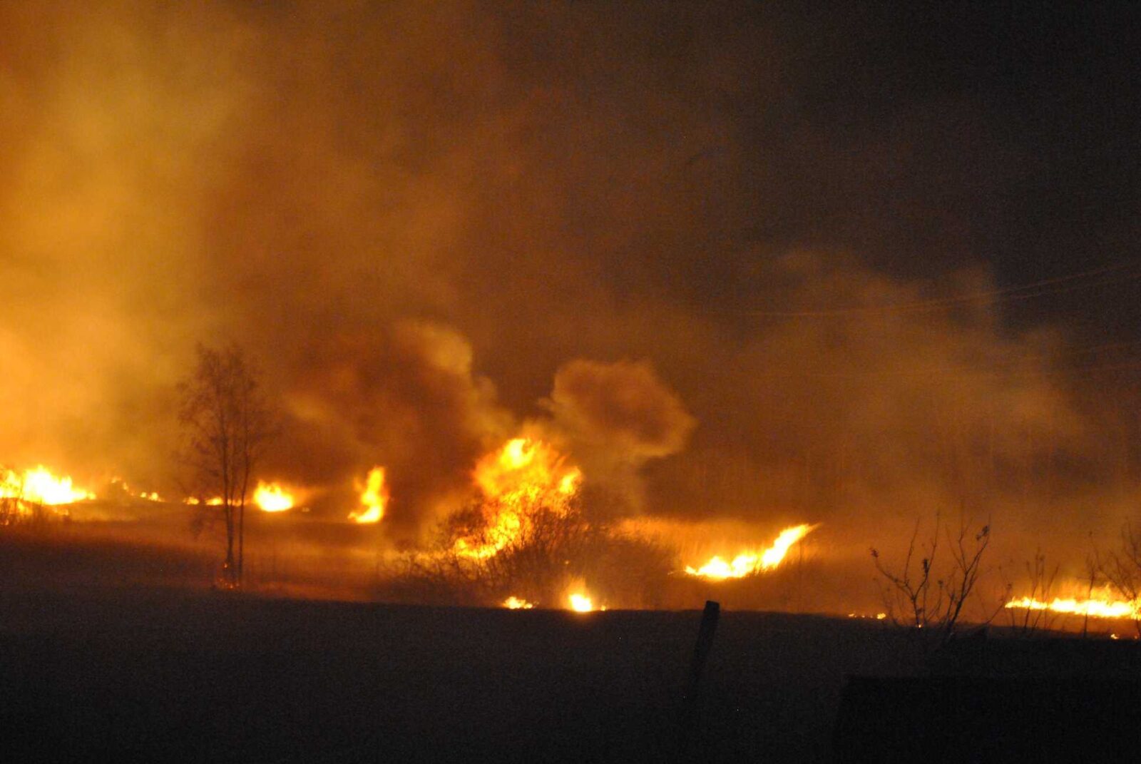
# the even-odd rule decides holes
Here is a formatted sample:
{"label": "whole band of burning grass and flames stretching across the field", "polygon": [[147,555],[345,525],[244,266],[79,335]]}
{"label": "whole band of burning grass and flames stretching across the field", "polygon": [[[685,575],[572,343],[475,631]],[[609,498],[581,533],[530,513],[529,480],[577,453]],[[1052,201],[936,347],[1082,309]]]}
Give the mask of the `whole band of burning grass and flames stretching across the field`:
{"label": "whole band of burning grass and flames stretching across the field", "polygon": [[[217,474],[213,467],[210,465],[207,473]],[[819,580],[826,580],[826,574],[822,577],[827,563],[824,549],[836,547],[835,541],[828,547],[810,544],[812,538],[827,537],[827,528],[820,530],[823,523],[788,525],[764,540],[755,529],[742,532],[734,528],[726,533],[715,523],[590,520],[583,509],[589,476],[566,453],[533,435],[511,437],[478,457],[460,508],[432,529],[430,544],[418,547],[394,545],[378,532],[389,504],[399,501],[391,494],[381,465],[353,478],[339,493],[351,497],[340,521],[310,515],[307,501],[327,489],[288,480],[251,481],[250,475],[243,475],[245,486],[230,490],[227,500],[221,496],[225,486],[163,497],[157,491],[137,490],[119,476],[106,478],[96,491],[44,465],[6,469],[0,476],[0,520],[13,531],[34,529],[81,539],[87,529],[96,536],[99,530],[114,529],[119,538],[129,539],[132,525],[143,528],[147,521],[162,518],[171,549],[178,547],[178,554],[197,555],[203,561],[209,561],[212,547],[224,539],[233,547],[234,523],[228,539],[218,525],[225,526],[227,515],[237,517],[236,513],[244,515],[249,508],[251,516],[242,516],[237,539],[241,557],[235,560],[229,548],[220,566],[217,561],[204,562],[202,570],[213,572],[209,580],[184,581],[191,586],[575,612],[682,606],[715,593],[730,603],[738,598],[739,606],[746,609],[776,606],[843,614],[842,603],[837,610],[836,600],[819,597],[814,602],[811,593]],[[204,485],[210,485],[209,480]],[[995,606],[980,594],[981,587],[976,588],[980,573],[995,578],[994,571],[979,565],[989,542],[989,528],[965,539],[969,549],[964,531],[970,534],[973,529],[964,525],[956,537],[950,525],[940,522],[933,517],[930,530],[923,528],[922,520],[916,523],[898,570],[882,568],[880,553],[873,549],[873,563],[881,574],[876,581],[879,600],[865,598],[865,610],[849,611],[848,618],[890,618],[905,627],[946,628],[954,624],[948,625],[948,611],[939,609],[954,606],[965,610],[955,613],[956,618],[962,614],[964,624],[1009,620],[1015,629],[1083,633],[1089,633],[1092,624],[1095,633],[1114,640],[1136,638],[1141,600],[1131,596],[1127,571],[1118,555],[1107,555],[1114,569],[1107,562],[1099,568],[1090,557],[1086,578],[1059,580],[1060,566],[1055,563],[1047,570],[1038,550],[1019,571],[1021,580],[1015,584],[1010,577],[1002,578],[1002,595]],[[334,577],[356,579],[355,585],[334,580],[321,565],[307,564],[307,557],[327,554],[319,544],[301,540],[307,529],[335,538],[331,544],[339,546],[338,554],[358,563],[356,571],[351,571],[351,562],[329,566]],[[921,531],[931,536],[920,538]],[[186,544],[191,538],[193,542]],[[952,568],[946,579],[936,582],[931,579],[940,544],[947,547],[944,554]],[[373,576],[367,586],[362,582],[362,570]],[[236,578],[238,571],[241,579]],[[640,590],[624,586],[630,577],[642,584]],[[968,600],[969,594],[994,610],[987,613],[979,609]],[[921,606],[919,600],[926,597],[930,602]]]}

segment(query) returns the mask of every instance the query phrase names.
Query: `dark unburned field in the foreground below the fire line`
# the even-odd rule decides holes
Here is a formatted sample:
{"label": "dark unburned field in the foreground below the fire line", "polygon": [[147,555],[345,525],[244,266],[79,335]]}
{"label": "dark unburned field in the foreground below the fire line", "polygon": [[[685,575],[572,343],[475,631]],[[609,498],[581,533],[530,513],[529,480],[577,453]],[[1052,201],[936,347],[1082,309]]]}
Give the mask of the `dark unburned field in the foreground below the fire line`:
{"label": "dark unburned field in the foreground below the fire line", "polygon": [[[49,530],[0,537],[0,763],[678,761],[699,610],[235,595],[215,549]],[[722,610],[687,758],[1135,750],[1138,643],[1001,632],[925,661],[880,621]]]}

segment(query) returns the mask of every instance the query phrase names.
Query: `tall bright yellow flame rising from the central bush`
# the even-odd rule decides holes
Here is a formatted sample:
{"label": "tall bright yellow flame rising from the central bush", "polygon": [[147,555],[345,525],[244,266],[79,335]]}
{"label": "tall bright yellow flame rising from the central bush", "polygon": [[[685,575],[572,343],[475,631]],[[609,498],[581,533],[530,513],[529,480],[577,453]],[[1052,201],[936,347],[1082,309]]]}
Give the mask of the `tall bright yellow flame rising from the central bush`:
{"label": "tall bright yellow flame rising from the central bush", "polygon": [[582,471],[542,441],[516,437],[476,464],[472,474],[483,493],[486,529],[479,540],[460,538],[462,556],[486,558],[517,539],[524,524],[541,508],[566,514],[582,482]]}

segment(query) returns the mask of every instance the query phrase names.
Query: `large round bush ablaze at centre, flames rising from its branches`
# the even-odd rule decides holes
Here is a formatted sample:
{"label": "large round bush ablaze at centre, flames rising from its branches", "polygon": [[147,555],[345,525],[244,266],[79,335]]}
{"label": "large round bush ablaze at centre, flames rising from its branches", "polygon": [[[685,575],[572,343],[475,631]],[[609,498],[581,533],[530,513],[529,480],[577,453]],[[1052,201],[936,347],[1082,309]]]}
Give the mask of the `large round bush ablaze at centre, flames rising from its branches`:
{"label": "large round bush ablaze at centre, flames rising from its branches", "polygon": [[600,605],[645,606],[674,568],[672,554],[586,520],[582,473],[553,448],[515,439],[476,466],[479,496],[439,525],[428,552],[406,555],[398,598],[565,606],[585,592]]}

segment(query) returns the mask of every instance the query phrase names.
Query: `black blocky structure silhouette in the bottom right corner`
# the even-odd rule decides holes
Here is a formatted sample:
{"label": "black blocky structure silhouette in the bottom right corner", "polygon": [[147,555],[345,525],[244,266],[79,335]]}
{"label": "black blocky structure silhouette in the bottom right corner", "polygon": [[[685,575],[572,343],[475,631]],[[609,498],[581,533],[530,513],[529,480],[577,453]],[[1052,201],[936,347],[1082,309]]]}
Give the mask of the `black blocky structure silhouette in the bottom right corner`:
{"label": "black blocky structure silhouette in the bottom right corner", "polygon": [[1138,648],[979,637],[937,652],[929,676],[849,677],[834,759],[1111,761],[1136,750]]}

